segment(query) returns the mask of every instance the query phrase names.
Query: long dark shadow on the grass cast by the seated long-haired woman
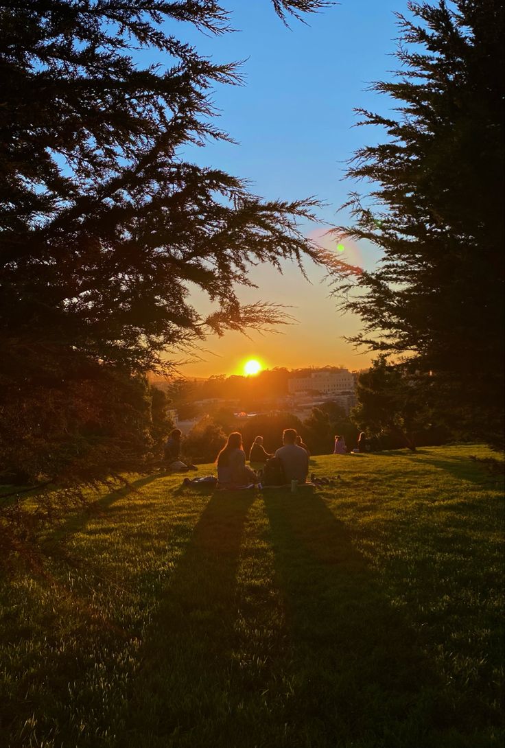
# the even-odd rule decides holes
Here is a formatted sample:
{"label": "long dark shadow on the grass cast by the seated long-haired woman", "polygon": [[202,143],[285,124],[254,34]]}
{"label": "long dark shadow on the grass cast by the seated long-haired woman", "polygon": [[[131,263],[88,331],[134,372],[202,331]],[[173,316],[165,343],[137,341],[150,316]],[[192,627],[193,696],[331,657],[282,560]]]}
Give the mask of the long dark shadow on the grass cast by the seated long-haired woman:
{"label": "long dark shadow on the grass cast by the seated long-haired woman", "polygon": [[253,491],[215,493],[203,510],[141,652],[128,746],[219,744],[203,736],[215,735],[212,725],[229,717],[236,570],[255,497]]}

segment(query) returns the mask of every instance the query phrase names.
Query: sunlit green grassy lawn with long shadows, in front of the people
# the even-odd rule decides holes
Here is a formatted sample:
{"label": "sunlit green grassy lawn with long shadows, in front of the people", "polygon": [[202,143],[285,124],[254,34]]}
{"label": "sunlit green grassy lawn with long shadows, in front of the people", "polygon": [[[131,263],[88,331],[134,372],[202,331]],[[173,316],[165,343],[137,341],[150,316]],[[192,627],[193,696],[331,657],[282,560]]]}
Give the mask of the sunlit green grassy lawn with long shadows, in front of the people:
{"label": "sunlit green grassy lawn with long shadows, in front of the people", "polygon": [[501,746],[503,477],[471,455],[317,457],[340,479],[312,494],[100,497],[59,531],[70,564],[0,583],[0,745]]}

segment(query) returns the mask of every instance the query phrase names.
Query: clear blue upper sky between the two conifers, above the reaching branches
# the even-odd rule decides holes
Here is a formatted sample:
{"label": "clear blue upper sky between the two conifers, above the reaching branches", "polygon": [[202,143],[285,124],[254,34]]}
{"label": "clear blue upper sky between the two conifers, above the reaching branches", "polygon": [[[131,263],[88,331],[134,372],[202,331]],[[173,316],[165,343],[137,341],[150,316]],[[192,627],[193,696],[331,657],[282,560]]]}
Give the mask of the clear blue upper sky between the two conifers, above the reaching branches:
{"label": "clear blue upper sky between the two conifers, above the reaching branches", "polygon": [[366,91],[391,77],[397,37],[394,10],[404,0],[343,0],[287,29],[269,0],[230,0],[237,31],[205,37],[183,28],[184,37],[215,61],[247,58],[245,85],[216,88],[219,125],[239,147],[215,144],[198,153],[199,162],[248,177],[264,197],[316,194],[329,206],[323,217],[336,220],[349,183],[340,181],[354,150],[379,137],[369,127],[353,127],[358,106],[385,111],[388,99]]}

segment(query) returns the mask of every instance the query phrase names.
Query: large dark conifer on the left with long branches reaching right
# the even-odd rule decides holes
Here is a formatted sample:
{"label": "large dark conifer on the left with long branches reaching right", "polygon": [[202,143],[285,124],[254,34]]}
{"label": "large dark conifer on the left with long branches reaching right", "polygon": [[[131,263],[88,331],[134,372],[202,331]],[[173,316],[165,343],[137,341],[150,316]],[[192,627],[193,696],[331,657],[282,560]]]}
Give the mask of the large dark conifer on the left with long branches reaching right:
{"label": "large dark conifer on the left with long branches reaching right", "polygon": [[[327,3],[273,4],[286,22]],[[315,200],[262,200],[185,160],[230,137],[210,96],[241,79],[184,24],[230,30],[215,0],[0,2],[0,462],[19,473],[23,455],[23,479],[139,468],[162,438],[145,373],[209,332],[282,321],[239,303],[251,264],[319,261],[297,229]]]}

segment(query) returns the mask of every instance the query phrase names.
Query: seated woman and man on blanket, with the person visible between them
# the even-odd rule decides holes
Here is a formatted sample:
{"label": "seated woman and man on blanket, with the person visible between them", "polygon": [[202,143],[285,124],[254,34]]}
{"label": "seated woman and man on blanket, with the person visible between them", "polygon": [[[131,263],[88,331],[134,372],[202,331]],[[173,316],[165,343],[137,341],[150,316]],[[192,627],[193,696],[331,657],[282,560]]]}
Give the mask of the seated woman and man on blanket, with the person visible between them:
{"label": "seated woman and man on blanket, with the person visible between them", "polygon": [[[280,463],[284,473],[283,482],[290,483],[293,479],[299,483],[307,480],[309,456],[304,447],[296,444],[298,434],[295,429],[285,429],[282,435],[284,447],[281,447],[275,453],[275,460]],[[235,431],[230,434],[226,445],[218,454],[218,485],[221,488],[235,488],[243,485],[254,485],[263,480],[265,485],[269,485],[267,479],[267,469],[269,459],[272,456],[267,454],[263,449],[257,437],[251,448],[251,462],[253,465],[264,465],[265,473],[263,476],[258,475],[252,468],[245,465],[245,452],[242,446],[242,434]],[[263,440],[261,440],[263,441]],[[255,447],[260,449],[255,450]],[[258,459],[260,458],[260,459]],[[279,485],[276,483],[275,485]]]}

